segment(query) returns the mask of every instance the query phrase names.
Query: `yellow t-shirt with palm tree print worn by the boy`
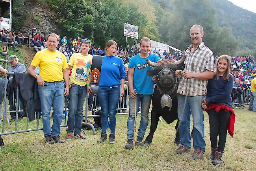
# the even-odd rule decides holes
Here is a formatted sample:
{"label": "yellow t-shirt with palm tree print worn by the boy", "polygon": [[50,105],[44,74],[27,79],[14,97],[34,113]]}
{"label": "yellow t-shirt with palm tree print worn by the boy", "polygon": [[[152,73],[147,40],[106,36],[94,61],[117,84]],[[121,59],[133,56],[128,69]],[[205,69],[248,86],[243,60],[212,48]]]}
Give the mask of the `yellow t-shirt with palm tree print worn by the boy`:
{"label": "yellow t-shirt with palm tree print worn by the boy", "polygon": [[83,56],[81,53],[74,53],[70,58],[69,65],[72,67],[70,83],[85,86],[89,79],[91,70],[92,55]]}

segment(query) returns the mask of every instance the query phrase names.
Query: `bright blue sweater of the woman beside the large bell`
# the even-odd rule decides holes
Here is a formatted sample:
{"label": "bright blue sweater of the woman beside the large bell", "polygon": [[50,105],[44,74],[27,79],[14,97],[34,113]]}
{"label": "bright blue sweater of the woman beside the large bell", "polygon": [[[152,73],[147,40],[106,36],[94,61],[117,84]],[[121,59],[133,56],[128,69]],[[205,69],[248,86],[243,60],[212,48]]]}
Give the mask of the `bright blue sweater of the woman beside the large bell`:
{"label": "bright blue sweater of the woman beside the large bell", "polygon": [[124,62],[117,56],[103,57],[99,87],[106,88],[121,85],[121,79],[126,79]]}

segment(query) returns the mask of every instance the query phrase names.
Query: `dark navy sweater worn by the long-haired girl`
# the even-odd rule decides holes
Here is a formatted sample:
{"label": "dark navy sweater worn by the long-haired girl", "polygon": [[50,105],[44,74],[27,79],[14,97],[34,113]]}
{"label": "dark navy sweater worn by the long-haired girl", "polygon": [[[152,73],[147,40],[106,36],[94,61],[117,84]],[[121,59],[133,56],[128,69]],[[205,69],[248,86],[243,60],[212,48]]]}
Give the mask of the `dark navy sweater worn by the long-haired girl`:
{"label": "dark navy sweater worn by the long-haired girl", "polygon": [[229,81],[224,81],[223,76],[219,77],[219,80],[215,80],[216,75],[213,79],[208,81],[206,102],[213,103],[215,105],[226,105],[232,107],[231,91],[233,88],[234,77],[229,76]]}

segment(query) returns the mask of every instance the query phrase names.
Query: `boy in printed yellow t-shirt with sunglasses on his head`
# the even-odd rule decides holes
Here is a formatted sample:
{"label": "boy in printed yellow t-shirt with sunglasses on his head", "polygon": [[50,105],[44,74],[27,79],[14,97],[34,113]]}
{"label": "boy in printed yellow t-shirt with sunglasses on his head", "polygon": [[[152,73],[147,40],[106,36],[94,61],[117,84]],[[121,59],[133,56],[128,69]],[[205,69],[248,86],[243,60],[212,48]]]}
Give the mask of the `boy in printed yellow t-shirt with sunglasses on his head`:
{"label": "boy in printed yellow t-shirt with sunglasses on his head", "polygon": [[85,139],[82,134],[81,125],[83,118],[83,103],[87,94],[91,63],[93,56],[88,54],[91,48],[91,40],[81,40],[81,53],[74,53],[69,61],[69,70],[72,68],[69,89],[69,116],[67,128],[67,140],[72,139],[72,134],[78,138]]}

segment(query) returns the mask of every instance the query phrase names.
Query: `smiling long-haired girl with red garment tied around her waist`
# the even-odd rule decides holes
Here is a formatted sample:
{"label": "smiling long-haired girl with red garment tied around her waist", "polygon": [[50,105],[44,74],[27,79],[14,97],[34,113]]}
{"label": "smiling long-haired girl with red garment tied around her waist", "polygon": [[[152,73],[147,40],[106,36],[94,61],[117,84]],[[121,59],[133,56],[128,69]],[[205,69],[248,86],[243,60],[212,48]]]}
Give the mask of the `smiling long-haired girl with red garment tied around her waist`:
{"label": "smiling long-haired girl with red garment tied around her waist", "polygon": [[230,56],[221,55],[216,65],[215,75],[208,81],[202,108],[209,114],[211,154],[208,158],[213,160],[213,165],[221,165],[227,131],[232,137],[234,134],[235,114],[230,96],[234,77],[230,74]]}

